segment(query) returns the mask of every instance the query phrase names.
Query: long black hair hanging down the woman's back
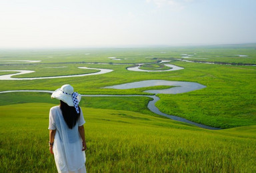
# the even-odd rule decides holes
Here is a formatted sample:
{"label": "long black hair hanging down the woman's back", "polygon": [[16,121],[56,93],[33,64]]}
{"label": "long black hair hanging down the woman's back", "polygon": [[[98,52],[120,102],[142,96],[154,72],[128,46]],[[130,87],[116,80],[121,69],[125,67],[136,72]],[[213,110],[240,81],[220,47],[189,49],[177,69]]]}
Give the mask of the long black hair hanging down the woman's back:
{"label": "long black hair hanging down the woman's back", "polygon": [[79,113],[77,114],[77,111],[75,110],[74,106],[69,106],[67,103],[63,102],[61,100],[61,112],[63,115],[63,118],[69,128],[73,128],[75,124],[77,124],[77,120],[80,116],[81,109],[79,108]]}

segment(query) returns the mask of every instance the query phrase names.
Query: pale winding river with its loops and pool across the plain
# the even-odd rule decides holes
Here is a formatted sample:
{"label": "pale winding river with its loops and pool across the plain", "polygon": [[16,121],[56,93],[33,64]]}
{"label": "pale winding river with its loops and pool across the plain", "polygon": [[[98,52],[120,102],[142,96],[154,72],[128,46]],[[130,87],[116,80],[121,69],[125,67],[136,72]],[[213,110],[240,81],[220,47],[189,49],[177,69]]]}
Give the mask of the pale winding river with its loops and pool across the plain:
{"label": "pale winding river with its loops and pool across the plain", "polygon": [[[161,63],[167,63],[168,61],[162,61]],[[143,64],[139,64],[143,65]],[[145,71],[142,69],[139,69],[138,67],[131,67],[127,68],[129,71],[143,71],[143,72],[161,72],[161,71]],[[167,67],[171,67],[172,69],[165,70],[165,71],[178,71],[181,69],[184,69],[183,67],[177,67],[175,65],[165,65]],[[35,71],[25,71],[25,70],[11,70],[6,72],[18,72],[14,74],[9,75],[0,75],[0,80],[35,80],[35,79],[56,79],[56,78],[66,78],[66,77],[84,77],[89,75],[101,75],[105,73],[110,73],[113,71],[112,69],[96,69],[96,68],[88,68],[88,67],[78,67],[79,69],[93,69],[93,70],[99,70],[99,72],[96,73],[87,73],[87,74],[81,74],[81,75],[65,75],[65,76],[55,76],[55,77],[31,77],[31,78],[15,78],[13,76],[15,75],[23,75],[28,73],[34,73]],[[153,93],[154,95],[82,95],[82,96],[147,96],[150,98],[153,98],[153,100],[149,101],[147,107],[149,110],[154,112],[155,114],[159,114],[161,116],[166,116],[167,118],[171,118],[173,120],[186,122],[189,124],[193,124],[195,126],[199,126],[201,128],[207,128],[210,130],[219,130],[220,128],[214,128],[211,126],[206,126],[204,124],[199,124],[197,122],[192,122],[190,120],[187,120],[185,118],[181,118],[179,116],[173,116],[170,114],[165,114],[161,112],[157,106],[155,106],[155,102],[157,102],[160,98],[156,96],[156,94],[180,94],[185,92],[190,92],[193,90],[199,90],[202,88],[205,88],[206,86],[201,85],[199,83],[191,83],[191,82],[183,82],[183,81],[165,81],[165,80],[147,80],[147,81],[139,81],[135,83],[126,83],[122,85],[114,85],[114,86],[105,86],[104,88],[113,88],[113,89],[129,89],[129,88],[141,88],[141,87],[149,87],[149,86],[174,86],[167,89],[160,89],[160,90],[145,90],[144,92]],[[51,90],[6,90],[1,91],[0,93],[7,93],[7,92],[48,92],[52,93]]]}

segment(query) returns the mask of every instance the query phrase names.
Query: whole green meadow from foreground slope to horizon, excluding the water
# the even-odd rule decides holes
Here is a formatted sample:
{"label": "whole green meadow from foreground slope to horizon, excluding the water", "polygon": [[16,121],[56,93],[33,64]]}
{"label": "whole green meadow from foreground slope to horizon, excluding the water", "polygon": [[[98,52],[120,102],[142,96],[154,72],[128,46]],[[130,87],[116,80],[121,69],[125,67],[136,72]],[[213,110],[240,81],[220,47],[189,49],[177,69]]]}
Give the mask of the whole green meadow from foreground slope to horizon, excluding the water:
{"label": "whole green meadow from foreground slope to horizon, excluding the water", "polygon": [[[109,57],[115,57],[114,60]],[[180,60],[239,65],[188,63]],[[40,61],[28,63],[27,61]],[[183,70],[167,70],[158,62]],[[103,63],[103,64],[102,64]],[[137,63],[152,72],[127,71]],[[168,63],[165,63],[168,64]],[[15,78],[111,73],[63,79],[6,81],[4,90],[55,90],[69,83],[80,94],[133,95],[154,86],[111,89],[145,80],[189,81],[207,86],[183,94],[157,94],[156,106],[223,130],[206,130],[159,116],[143,96],[83,97],[88,172],[256,172],[256,45],[112,49],[1,50],[0,75],[35,71]],[[251,65],[251,66],[246,66]],[[58,68],[56,68],[58,67]],[[56,172],[48,150],[49,108],[59,104],[41,92],[0,93],[0,172]]]}

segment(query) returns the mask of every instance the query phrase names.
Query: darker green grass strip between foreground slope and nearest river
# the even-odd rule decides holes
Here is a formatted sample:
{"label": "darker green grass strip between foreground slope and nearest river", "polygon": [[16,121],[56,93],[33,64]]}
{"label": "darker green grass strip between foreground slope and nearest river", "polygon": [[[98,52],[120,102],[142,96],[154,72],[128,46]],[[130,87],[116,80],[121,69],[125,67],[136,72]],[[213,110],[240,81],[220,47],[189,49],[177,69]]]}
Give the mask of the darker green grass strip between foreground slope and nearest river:
{"label": "darker green grass strip between foreground slope and nearest river", "polygon": [[[59,104],[59,100],[51,99],[51,94],[42,92],[10,92],[2,93],[0,106],[11,105],[11,104],[23,104],[30,102],[38,103],[51,103]],[[149,114],[152,116],[159,116],[147,109],[147,102],[152,98],[148,97],[138,97],[138,96],[106,96],[106,97],[91,97],[86,96],[79,102],[80,106],[85,106],[89,108],[105,108],[105,109],[115,109],[115,110],[129,110],[133,112],[141,112],[143,114]]]}

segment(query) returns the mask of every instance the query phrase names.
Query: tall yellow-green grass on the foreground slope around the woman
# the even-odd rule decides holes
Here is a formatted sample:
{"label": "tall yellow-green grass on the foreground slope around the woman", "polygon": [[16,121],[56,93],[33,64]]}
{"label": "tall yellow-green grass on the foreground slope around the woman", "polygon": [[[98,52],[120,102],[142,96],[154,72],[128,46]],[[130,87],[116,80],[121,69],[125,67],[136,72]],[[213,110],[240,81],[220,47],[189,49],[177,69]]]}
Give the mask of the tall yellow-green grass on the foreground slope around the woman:
{"label": "tall yellow-green grass on the foreground slope around the woman", "polygon": [[[0,106],[0,172],[57,172],[51,106]],[[124,110],[83,112],[88,172],[256,172],[256,126],[212,131]]]}

